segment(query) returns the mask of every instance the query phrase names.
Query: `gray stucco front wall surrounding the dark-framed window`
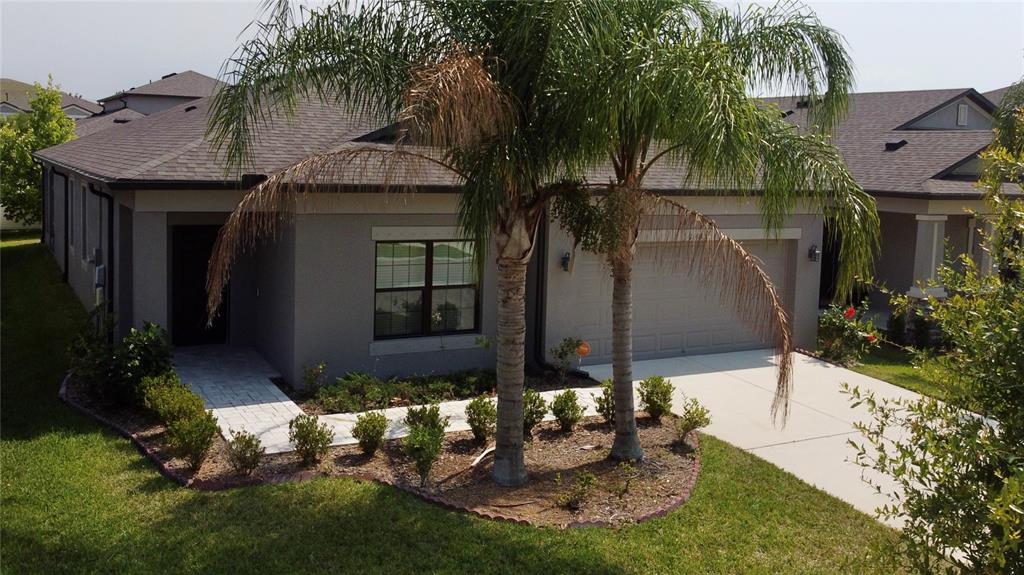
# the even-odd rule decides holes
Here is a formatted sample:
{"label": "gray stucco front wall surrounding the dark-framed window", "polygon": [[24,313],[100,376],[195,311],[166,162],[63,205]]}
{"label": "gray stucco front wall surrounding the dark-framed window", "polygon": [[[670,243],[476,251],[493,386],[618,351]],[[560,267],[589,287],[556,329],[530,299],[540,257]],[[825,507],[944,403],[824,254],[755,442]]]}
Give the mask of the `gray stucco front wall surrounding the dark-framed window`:
{"label": "gray stucco front wall surrounding the dark-framed window", "polygon": [[[495,356],[475,335],[374,343],[374,226],[454,226],[454,215],[311,214],[296,218],[295,362],[286,379],[301,385],[302,365],[326,361],[331,375],[369,371],[380,377],[493,367]],[[494,338],[496,270],[481,290],[480,331]],[[459,348],[459,349],[454,349]]]}

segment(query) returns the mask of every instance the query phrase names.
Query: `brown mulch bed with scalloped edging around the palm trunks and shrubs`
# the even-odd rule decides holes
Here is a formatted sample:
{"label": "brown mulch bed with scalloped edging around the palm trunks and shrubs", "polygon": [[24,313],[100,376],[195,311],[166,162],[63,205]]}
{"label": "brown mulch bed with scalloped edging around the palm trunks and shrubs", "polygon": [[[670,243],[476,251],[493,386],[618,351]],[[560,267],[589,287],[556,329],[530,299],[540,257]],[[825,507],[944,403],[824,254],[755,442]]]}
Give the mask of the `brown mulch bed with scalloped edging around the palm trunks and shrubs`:
{"label": "brown mulch bed with scalloped edging around the palm trunks and shrubs", "polygon": [[[165,476],[201,490],[348,477],[392,485],[445,507],[488,519],[538,526],[618,526],[664,515],[682,504],[689,498],[700,468],[695,433],[680,444],[668,417],[653,423],[641,415],[638,424],[645,459],[632,471],[607,458],[613,430],[599,417],[588,417],[571,434],[560,432],[555,422],[535,429],[534,440],[525,449],[530,481],[518,488],[500,487],[490,481],[489,457],[472,467],[484,446],[469,432],[445,436],[430,481],[422,487],[412,461],[401,452],[400,440],[386,442],[373,457],[364,455],[357,445],[332,447],[312,470],[303,468],[294,452],[267,454],[247,478],[231,470],[227,444],[219,436],[203,466],[194,472],[168,449],[164,427],[154,418],[97,401],[70,379],[61,386],[60,397],[132,440]],[[571,489],[582,473],[597,478],[591,496],[578,511],[559,506],[558,496]]]}

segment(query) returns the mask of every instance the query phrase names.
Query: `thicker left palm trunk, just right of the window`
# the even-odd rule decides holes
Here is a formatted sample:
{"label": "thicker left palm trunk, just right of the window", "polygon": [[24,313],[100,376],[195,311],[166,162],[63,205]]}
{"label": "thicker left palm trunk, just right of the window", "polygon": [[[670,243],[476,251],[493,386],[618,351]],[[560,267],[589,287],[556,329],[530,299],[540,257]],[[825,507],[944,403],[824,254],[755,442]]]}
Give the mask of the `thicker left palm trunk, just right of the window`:
{"label": "thicker left palm trunk, just right of the window", "polygon": [[[498,430],[495,434],[494,480],[518,486],[527,481],[523,461],[522,393],[526,348],[526,265],[534,234],[525,219],[498,244]],[[535,229],[536,231],[536,229]]]}

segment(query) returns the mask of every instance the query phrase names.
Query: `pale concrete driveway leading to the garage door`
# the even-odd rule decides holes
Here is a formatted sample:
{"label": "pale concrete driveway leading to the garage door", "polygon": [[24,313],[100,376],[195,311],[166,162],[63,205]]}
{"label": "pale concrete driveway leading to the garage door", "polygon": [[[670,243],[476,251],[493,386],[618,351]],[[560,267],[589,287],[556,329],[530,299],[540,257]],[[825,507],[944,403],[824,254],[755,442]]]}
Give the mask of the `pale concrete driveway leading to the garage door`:
{"label": "pale concrete driveway leading to the garage door", "polygon": [[[611,377],[611,365],[585,366],[597,380]],[[888,499],[864,483],[864,472],[850,461],[847,440],[860,438],[856,422],[868,419],[864,407],[852,408],[840,391],[843,383],[874,391],[878,397],[916,398],[918,394],[802,354],[794,356],[794,389],[785,427],[772,425],[775,365],[769,350],[652,359],[634,363],[640,381],[664,375],[682,396],[695,397],[712,414],[705,431],[767,459],[858,510],[873,514]],[[887,478],[871,475],[886,481]],[[887,485],[891,485],[887,482]]]}

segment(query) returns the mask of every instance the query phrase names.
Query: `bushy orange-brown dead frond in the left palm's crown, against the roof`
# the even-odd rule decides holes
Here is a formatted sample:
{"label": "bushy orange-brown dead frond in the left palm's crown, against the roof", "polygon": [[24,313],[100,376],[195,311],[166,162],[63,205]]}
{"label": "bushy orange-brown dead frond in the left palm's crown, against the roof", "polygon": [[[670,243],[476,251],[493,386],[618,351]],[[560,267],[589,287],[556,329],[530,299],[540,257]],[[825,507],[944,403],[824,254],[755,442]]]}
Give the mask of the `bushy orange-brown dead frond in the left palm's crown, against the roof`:
{"label": "bushy orange-brown dead frond in the left palm's crown, against the roof", "polygon": [[456,48],[441,61],[413,73],[398,116],[399,141],[471,148],[504,133],[512,123],[512,109],[483,57]]}

